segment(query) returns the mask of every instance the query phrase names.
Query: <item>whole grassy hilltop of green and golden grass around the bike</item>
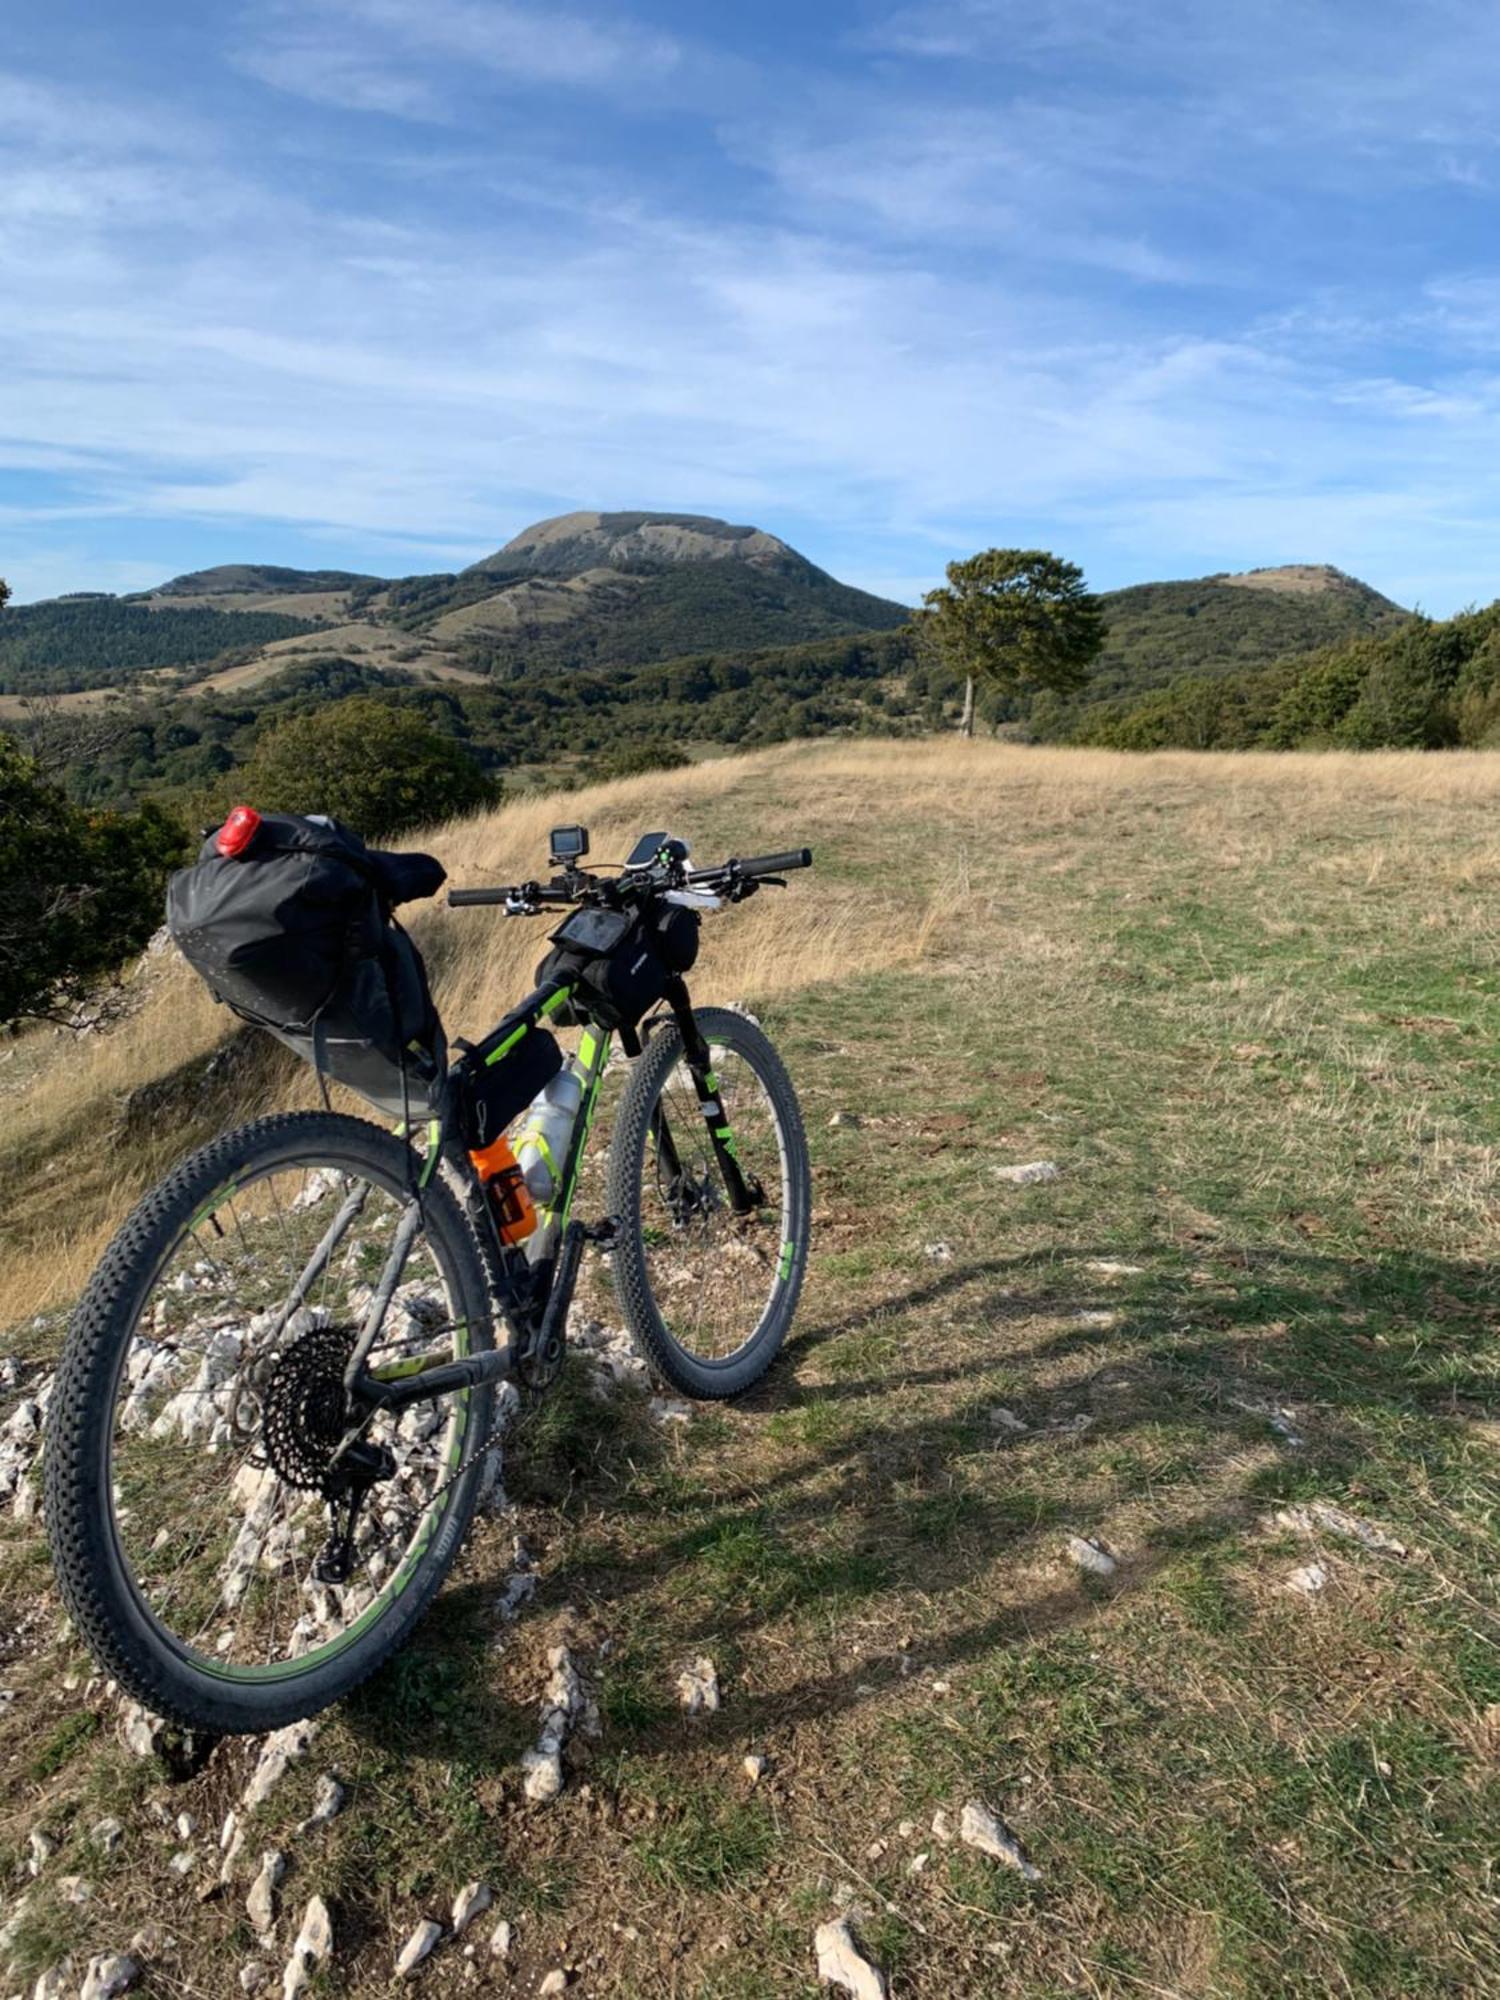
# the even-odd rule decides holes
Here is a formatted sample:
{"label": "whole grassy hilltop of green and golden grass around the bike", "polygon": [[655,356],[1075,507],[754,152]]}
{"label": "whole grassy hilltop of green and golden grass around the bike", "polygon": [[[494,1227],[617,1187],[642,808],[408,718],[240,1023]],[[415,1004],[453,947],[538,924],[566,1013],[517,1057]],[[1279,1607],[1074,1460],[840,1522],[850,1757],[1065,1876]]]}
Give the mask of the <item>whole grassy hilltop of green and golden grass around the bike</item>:
{"label": "whole grassy hilltop of green and golden grass around the bike", "polygon": [[[514,1994],[572,1968],[588,1996],[810,2000],[836,1910],[894,1996],[1496,1990],[1496,806],[1488,754],[822,744],[442,830],[460,882],[528,872],[554,818],[604,858],[646,824],[704,858],[812,842],[694,978],[802,1094],[800,1326],[752,1400],[688,1422],[578,1358],[508,1442],[512,1512],[256,1808],[228,1888],[258,1746],[132,1756],[36,1522],[0,1514],[6,1990],[146,1920],[146,1990],[250,1962],[274,1990],[322,1894],[330,1990],[362,2000],[474,1878],[476,1984]],[[418,936],[470,1036],[540,950],[490,912]],[[152,960],[124,1026],[12,1044],[0,1090],[4,1424],[138,1190],[312,1086]],[[1056,1178],[1010,1178],[1032,1162]],[[538,1594],[506,1624],[514,1534]],[[534,1808],[564,1640],[602,1736]],[[678,1708],[698,1654],[718,1714]],[[298,1832],[322,1772],[348,1802]],[[944,1838],[970,1798],[1036,1882]],[[288,1860],[268,1948],[262,1850]]]}

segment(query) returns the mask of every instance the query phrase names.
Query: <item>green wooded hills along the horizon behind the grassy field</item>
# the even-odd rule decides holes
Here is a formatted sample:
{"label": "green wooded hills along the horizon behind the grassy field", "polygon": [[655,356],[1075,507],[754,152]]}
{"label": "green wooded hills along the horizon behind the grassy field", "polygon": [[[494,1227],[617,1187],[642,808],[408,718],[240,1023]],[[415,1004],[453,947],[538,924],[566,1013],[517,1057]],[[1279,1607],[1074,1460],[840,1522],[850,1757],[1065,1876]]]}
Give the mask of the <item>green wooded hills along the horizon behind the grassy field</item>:
{"label": "green wooded hills along the horizon behind the grassy field", "polygon": [[[982,724],[1122,748],[1488,742],[1500,726],[1492,614],[1432,624],[1314,564],[1100,604],[1108,642],[1088,686],[982,692]],[[906,606],[760,528],[582,512],[454,574],[224,564],[136,600],[10,610],[0,694],[78,688],[96,692],[8,714],[68,792],[114,808],[154,796],[196,818],[280,724],[352,696],[420,718],[504,786],[942,728],[956,678]]]}

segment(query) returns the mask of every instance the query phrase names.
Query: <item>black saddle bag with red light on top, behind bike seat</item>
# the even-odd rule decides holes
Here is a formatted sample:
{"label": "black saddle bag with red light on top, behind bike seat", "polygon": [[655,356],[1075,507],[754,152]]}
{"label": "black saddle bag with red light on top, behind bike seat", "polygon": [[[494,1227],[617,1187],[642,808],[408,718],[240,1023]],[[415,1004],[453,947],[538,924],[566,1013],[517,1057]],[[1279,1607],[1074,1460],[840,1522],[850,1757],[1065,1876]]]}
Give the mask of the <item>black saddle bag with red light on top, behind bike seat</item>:
{"label": "black saddle bag with red light on top, behind bike seat", "polygon": [[440,1114],[448,1044],[392,906],[432,894],[442,864],[292,812],[262,814],[238,854],[216,840],[166,888],[168,930],[214,998],[384,1116]]}

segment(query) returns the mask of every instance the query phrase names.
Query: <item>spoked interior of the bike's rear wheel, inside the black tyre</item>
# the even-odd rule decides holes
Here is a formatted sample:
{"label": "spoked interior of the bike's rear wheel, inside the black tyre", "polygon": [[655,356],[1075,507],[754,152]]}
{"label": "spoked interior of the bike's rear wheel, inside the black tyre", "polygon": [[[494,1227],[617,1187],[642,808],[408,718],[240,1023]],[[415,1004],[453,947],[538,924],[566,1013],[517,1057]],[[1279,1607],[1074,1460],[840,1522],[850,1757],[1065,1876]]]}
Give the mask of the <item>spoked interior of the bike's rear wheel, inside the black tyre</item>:
{"label": "spoked interior of the bike's rear wheel, inside the black tyre", "polygon": [[450,1358],[466,1338],[450,1276],[402,1206],[320,1168],[236,1186],[184,1230],[132,1328],[112,1428],[120,1552],[146,1610],[230,1672],[338,1640],[448,1484],[462,1398],[376,1414],[362,1436],[388,1474],[368,1486],[336,1576],[324,1552],[350,1498],[330,1510],[310,1468],[344,1436],[342,1366],[372,1304],[388,1286],[374,1366]]}

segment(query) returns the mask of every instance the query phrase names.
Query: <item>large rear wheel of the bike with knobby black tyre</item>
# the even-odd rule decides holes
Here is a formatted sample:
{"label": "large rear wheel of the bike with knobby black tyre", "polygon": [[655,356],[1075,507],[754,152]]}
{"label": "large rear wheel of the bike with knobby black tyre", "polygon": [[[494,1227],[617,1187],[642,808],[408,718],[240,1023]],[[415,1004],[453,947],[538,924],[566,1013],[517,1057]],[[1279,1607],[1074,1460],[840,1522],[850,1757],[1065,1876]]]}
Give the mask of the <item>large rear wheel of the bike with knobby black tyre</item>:
{"label": "large rear wheel of the bike with knobby black tyre", "polygon": [[106,1672],[188,1728],[262,1732],[348,1694],[468,1528],[488,1388],[364,1422],[378,1470],[352,1516],[338,1498],[342,1374],[382,1282],[372,1372],[492,1346],[470,1228],[410,1178],[410,1148],[364,1120],[258,1120],[144,1198],[78,1306],[48,1418],[52,1558]]}

